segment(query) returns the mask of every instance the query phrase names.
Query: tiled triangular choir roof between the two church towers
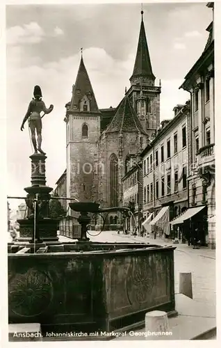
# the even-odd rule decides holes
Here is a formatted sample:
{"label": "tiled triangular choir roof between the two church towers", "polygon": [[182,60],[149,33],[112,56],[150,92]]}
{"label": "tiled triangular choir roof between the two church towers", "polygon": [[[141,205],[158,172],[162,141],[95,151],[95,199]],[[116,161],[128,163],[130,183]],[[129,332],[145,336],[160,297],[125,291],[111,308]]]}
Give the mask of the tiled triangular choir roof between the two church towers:
{"label": "tiled triangular choir roof between the two church towers", "polygon": [[140,132],[147,135],[127,95],[125,95],[124,99],[117,106],[113,119],[106,129],[106,133],[115,132]]}

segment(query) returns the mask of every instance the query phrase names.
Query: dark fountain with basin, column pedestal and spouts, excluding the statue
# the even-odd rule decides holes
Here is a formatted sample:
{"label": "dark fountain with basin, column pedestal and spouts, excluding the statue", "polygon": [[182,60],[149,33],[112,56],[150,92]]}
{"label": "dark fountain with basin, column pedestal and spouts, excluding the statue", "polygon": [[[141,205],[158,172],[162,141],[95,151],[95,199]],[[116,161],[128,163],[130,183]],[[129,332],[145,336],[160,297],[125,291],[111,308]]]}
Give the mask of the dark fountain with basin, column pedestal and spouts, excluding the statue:
{"label": "dark fountain with basin, column pedestal and spouts, excluding the statue", "polygon": [[59,242],[49,200],[60,198],[51,197],[45,185],[46,158],[31,156],[31,187],[22,197],[28,213],[19,220],[19,242],[8,244],[9,324],[40,323],[43,335],[75,332],[85,339],[135,329],[151,310],[176,315],[174,247],[91,242],[87,236],[88,213],[101,214],[105,225],[104,213],[129,209],[69,203],[80,213],[81,237]]}

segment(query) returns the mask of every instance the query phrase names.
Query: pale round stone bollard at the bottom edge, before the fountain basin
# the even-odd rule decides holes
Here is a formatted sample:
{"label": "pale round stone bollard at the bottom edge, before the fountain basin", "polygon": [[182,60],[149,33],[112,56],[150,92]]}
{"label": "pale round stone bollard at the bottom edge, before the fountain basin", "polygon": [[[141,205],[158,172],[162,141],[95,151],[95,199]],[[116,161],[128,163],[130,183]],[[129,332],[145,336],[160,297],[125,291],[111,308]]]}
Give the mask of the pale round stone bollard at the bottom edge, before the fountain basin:
{"label": "pale round stone bollard at the bottom edge, before the fountain basin", "polygon": [[167,313],[162,310],[152,310],[145,315],[145,339],[165,340],[170,332]]}

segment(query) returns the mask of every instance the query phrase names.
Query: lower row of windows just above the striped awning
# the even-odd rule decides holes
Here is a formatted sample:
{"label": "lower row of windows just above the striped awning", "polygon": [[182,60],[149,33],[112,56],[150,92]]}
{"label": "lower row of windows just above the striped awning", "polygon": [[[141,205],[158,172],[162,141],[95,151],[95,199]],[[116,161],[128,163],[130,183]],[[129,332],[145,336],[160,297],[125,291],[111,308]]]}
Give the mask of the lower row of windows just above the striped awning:
{"label": "lower row of windows just above the striped awning", "polygon": [[[174,192],[178,191],[179,182],[183,181],[183,189],[186,189],[187,180],[186,180],[186,167],[183,167],[181,177],[178,177],[178,171],[174,172]],[[156,199],[160,197],[159,192],[159,182],[156,180]],[[166,194],[171,193],[171,174],[167,174],[167,184],[165,186],[165,177],[161,177],[161,197]],[[148,203],[153,200],[153,184],[147,185],[144,188],[144,203]]]}

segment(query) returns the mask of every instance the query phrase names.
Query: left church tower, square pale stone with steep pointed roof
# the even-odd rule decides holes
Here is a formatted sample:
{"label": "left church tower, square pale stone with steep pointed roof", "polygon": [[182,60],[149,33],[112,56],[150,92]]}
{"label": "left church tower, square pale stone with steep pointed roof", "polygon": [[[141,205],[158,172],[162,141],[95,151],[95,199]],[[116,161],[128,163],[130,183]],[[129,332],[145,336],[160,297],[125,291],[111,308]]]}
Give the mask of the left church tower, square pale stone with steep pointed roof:
{"label": "left church tower, square pale stone with steep pointed roof", "polygon": [[72,87],[72,100],[65,107],[67,197],[81,202],[92,201],[101,113],[82,54],[76,82]]}

